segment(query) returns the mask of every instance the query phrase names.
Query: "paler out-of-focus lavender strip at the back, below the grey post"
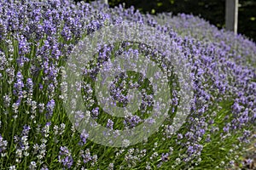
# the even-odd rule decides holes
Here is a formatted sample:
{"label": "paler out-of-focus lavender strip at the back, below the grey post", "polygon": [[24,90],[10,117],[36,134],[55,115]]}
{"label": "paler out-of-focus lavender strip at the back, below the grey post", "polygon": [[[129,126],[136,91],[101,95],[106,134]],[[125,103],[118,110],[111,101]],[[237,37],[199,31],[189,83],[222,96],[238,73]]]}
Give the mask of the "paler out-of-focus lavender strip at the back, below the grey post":
{"label": "paler out-of-focus lavender strip at the back, below the grey post", "polygon": [[212,42],[216,47],[229,52],[227,59],[238,65],[255,66],[255,42],[242,35],[234,36],[231,31],[219,31],[207,21],[189,14],[159,14],[155,20],[161,25],[172,26],[183,37],[195,38],[204,42]]}

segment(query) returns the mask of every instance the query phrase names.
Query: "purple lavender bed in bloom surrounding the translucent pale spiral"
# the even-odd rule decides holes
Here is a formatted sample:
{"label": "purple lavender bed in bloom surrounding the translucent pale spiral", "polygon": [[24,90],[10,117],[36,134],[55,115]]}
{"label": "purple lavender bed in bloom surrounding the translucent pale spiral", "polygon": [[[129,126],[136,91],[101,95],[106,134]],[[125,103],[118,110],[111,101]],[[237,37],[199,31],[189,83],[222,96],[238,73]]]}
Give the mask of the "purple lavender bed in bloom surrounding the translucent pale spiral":
{"label": "purple lavender bed in bloom surrounding the translucent pale spiral", "polygon": [[[224,168],[234,166],[244,147],[255,141],[256,45],[241,35],[218,31],[191,15],[152,16],[132,7],[69,0],[3,0],[0,16],[1,169]],[[127,20],[153,26],[177,43],[181,57],[192,67],[194,105],[187,122],[173,134],[172,114],[182,97],[173,89],[172,113],[157,133],[140,144],[112,148],[94,144],[86,131],[78,133],[68,121],[61,74],[80,39]],[[129,48],[119,51],[138,53]],[[102,55],[106,54],[100,53],[99,59]],[[135,82],[127,75],[122,79],[126,83],[113,85],[113,98],[126,105],[122,87],[147,84],[141,109],[150,111],[154,105],[150,83],[143,78]],[[84,103],[102,125],[132,128],[143,121],[143,114],[123,120],[108,117],[96,105],[94,89],[83,88]]]}

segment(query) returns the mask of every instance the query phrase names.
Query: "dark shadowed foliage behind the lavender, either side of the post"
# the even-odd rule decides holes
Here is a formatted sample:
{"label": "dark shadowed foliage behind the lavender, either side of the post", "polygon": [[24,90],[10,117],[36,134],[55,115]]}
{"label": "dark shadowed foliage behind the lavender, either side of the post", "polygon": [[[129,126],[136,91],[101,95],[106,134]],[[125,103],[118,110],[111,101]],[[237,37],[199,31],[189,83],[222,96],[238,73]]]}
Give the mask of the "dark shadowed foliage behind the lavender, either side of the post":
{"label": "dark shadowed foliage behind the lavender, either side of the post", "polygon": [[[225,26],[225,0],[108,0],[108,3],[111,7],[125,3],[125,8],[134,6],[144,14],[194,14],[220,29]],[[239,0],[238,33],[256,42],[256,0]]]}

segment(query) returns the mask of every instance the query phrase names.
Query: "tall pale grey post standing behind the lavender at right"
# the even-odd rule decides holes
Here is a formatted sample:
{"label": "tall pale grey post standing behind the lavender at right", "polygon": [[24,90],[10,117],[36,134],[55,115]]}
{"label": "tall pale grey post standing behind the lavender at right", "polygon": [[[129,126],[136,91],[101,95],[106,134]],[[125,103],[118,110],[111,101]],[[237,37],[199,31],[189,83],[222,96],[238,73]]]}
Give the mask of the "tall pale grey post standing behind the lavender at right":
{"label": "tall pale grey post standing behind the lavender at right", "polygon": [[226,0],[225,24],[226,30],[237,33],[238,0]]}

